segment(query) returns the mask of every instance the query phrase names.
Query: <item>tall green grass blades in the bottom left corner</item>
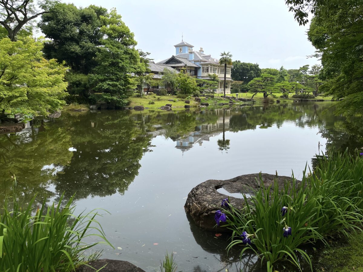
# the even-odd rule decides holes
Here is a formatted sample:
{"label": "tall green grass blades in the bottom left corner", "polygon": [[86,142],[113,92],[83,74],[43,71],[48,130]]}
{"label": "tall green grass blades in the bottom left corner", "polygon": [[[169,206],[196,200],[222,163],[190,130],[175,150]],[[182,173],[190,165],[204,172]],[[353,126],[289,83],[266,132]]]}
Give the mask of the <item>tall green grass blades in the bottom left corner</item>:
{"label": "tall green grass blades in the bottom left corner", "polygon": [[86,243],[85,238],[96,236],[111,246],[96,221],[98,214],[73,215],[72,198],[64,206],[61,196],[56,205],[44,201],[34,209],[33,197],[23,208],[16,202],[15,178],[13,191],[13,209],[8,210],[7,200],[0,213],[0,271],[75,271],[99,257],[85,251],[100,242]]}

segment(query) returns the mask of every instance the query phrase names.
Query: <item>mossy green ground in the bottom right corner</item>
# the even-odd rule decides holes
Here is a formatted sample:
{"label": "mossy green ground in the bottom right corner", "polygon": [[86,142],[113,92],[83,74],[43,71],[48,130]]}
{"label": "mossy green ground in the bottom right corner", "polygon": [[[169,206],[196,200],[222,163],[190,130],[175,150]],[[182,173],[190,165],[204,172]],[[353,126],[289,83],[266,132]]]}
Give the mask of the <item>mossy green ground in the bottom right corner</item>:
{"label": "mossy green ground in the bottom right corner", "polygon": [[321,250],[315,271],[363,271],[363,233],[352,233],[349,238],[335,238],[330,247]]}

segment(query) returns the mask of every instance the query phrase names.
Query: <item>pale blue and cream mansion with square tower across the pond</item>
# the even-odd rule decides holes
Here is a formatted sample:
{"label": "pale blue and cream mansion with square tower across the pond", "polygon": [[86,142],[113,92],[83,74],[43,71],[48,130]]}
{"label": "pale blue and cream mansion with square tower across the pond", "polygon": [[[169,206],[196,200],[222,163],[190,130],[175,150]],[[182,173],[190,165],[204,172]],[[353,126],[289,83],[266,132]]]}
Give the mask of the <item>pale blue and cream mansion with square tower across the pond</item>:
{"label": "pale blue and cream mansion with square tower across the pond", "polygon": [[[209,79],[208,74],[217,74],[220,81],[217,89],[213,90],[216,93],[223,93],[224,82],[224,65],[219,64],[219,59],[212,58],[211,55],[204,53],[203,48],[199,51],[193,50],[193,45],[187,42],[180,42],[174,45],[175,55],[164,59],[158,63],[150,62],[150,73],[154,73],[154,79],[160,79],[165,68],[176,70],[177,73],[184,69],[192,76],[201,79]],[[231,65],[227,65],[226,71],[226,94],[231,93]],[[145,85],[144,88],[150,89],[150,86]],[[167,88],[167,86],[156,86],[151,88]],[[150,90],[151,91],[151,90]]]}

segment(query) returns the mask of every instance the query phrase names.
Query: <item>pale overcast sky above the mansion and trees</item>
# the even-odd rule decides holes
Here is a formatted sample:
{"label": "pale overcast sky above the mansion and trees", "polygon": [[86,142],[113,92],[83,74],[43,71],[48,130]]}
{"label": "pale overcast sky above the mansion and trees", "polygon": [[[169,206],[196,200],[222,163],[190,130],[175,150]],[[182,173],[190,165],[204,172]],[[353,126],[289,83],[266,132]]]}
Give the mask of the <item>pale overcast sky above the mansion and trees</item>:
{"label": "pale overcast sky above the mansion and trees", "polygon": [[160,61],[175,54],[174,45],[184,41],[194,50],[219,58],[231,51],[233,60],[258,63],[261,68],[286,69],[320,63],[307,40],[307,27],[299,26],[285,0],[74,0],[117,8],[135,33],[136,48]]}

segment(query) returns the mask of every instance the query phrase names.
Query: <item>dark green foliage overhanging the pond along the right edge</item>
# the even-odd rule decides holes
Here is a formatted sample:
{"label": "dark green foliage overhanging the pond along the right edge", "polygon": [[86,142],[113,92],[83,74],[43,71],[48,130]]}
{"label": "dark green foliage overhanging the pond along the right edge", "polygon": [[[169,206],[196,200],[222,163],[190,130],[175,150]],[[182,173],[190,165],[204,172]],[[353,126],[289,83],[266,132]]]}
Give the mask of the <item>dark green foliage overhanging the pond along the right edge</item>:
{"label": "dark green foliage overhanging the pond along the right edge", "polygon": [[286,0],[299,24],[311,20],[308,38],[321,57],[319,77],[330,79],[326,94],[343,98],[338,113],[362,115],[363,104],[363,1]]}

